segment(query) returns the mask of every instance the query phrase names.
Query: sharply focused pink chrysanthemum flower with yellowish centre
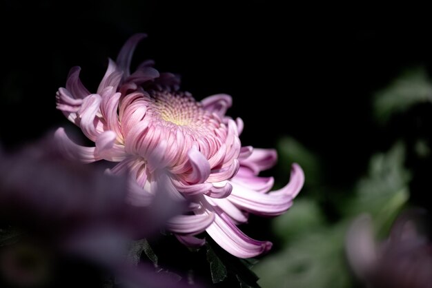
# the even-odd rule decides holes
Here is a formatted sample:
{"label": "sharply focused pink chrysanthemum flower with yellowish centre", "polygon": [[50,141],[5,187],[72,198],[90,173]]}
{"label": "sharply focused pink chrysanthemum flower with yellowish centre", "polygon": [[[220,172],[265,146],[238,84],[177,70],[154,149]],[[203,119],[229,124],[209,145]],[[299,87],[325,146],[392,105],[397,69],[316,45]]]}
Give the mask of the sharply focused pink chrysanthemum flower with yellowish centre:
{"label": "sharply focused pink chrysanthemum flower with yellowish centre", "polygon": [[[269,192],[273,178],[258,174],[275,164],[276,152],[242,147],[242,120],[226,116],[230,96],[196,101],[179,90],[177,76],[152,68],[153,61],[144,61],[130,73],[132,52],[144,37],[131,37],[117,61],[109,61],[96,93],[81,83],[79,68],[72,68],[66,88],[57,92],[57,108],[95,147],[72,143],[60,128],[57,137],[65,151],[84,162],[118,162],[111,169],[115,174],[129,170],[135,176],[129,200],[135,205],[150,203],[159,180],[168,180],[170,194],[191,203],[190,212],[168,223],[185,245],[203,245],[195,236],[206,231],[240,258],[268,251],[270,242],[249,238],[237,225],[247,222],[248,213],[286,212],[304,183],[302,169],[293,164],[288,185]],[[159,173],[161,168],[166,173]]]}

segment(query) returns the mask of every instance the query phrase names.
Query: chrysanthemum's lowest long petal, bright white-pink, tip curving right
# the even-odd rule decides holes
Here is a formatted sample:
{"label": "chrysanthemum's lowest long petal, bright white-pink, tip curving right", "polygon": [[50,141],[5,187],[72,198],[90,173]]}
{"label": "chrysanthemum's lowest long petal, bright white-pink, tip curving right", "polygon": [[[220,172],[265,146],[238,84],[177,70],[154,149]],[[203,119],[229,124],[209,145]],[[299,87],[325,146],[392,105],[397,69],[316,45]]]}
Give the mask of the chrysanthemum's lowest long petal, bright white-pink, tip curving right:
{"label": "chrysanthemum's lowest long petal, bright white-pink, tip curving right", "polygon": [[234,225],[224,214],[216,214],[206,232],[220,247],[239,258],[252,258],[271,249],[272,243],[254,240]]}

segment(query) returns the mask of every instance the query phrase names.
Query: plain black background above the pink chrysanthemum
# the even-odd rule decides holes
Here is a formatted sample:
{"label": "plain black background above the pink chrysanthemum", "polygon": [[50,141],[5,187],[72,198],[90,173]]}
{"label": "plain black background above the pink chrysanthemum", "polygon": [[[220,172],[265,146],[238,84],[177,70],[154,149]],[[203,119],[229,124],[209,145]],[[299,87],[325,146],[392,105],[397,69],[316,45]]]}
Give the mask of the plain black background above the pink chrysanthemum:
{"label": "plain black background above the pink chrysanthemum", "polygon": [[[390,8],[2,1],[1,143],[13,149],[66,125],[55,92],[68,70],[80,65],[81,79],[95,90],[107,58],[115,59],[130,35],[146,32],[135,61],[155,59],[159,71],[181,74],[183,90],[196,99],[232,95],[229,114],[244,119],[244,144],[274,147],[280,136],[293,136],[324,159],[328,183],[349,186],[373,152],[389,149],[400,135],[429,137],[432,127],[413,132],[418,114],[389,127],[373,119],[375,91],[406,68],[429,71],[432,63],[427,15]],[[415,112],[422,123],[431,122],[429,108]]]}

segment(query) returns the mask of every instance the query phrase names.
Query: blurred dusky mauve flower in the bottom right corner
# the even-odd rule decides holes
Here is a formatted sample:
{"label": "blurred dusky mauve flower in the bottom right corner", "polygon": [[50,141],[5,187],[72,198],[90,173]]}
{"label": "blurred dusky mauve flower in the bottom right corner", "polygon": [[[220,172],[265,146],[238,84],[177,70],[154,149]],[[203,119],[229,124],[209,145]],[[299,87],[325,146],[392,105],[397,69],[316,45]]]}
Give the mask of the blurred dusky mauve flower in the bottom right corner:
{"label": "blurred dusky mauve flower in the bottom right corner", "polygon": [[346,252],[358,277],[377,288],[432,287],[432,243],[418,232],[418,213],[402,214],[390,237],[375,243],[370,216],[355,219]]}

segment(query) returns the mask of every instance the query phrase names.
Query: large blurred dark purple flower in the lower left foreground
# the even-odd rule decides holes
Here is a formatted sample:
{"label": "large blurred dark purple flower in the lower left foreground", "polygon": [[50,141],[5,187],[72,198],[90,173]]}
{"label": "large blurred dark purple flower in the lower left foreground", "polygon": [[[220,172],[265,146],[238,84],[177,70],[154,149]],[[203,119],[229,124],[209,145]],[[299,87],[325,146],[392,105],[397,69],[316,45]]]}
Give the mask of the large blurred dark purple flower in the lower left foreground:
{"label": "large blurred dark purple flower in the lower left foreground", "polygon": [[181,212],[164,189],[158,195],[148,207],[127,204],[126,175],[108,176],[65,160],[49,140],[18,154],[0,154],[0,225],[8,228],[0,229],[0,286],[94,284],[88,281],[95,275],[86,268],[81,279],[86,282],[79,282],[77,265],[57,265],[68,259],[113,273],[121,287],[182,287],[126,257],[131,240],[154,236]]}

